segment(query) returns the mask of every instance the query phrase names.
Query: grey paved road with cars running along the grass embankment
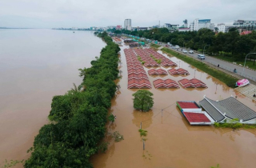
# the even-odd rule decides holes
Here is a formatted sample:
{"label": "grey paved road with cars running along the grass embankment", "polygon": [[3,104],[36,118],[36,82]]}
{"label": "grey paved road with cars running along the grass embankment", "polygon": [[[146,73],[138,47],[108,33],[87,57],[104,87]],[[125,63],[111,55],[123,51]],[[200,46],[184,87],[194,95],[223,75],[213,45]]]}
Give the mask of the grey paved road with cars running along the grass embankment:
{"label": "grey paved road with cars running along the grass embankment", "polygon": [[[166,43],[162,43],[161,46],[166,46]],[[174,49],[172,47],[167,47],[167,48],[177,51],[176,49]],[[187,51],[189,51],[189,50],[187,50]],[[179,48],[178,52],[182,53],[182,54],[185,54],[185,53],[182,52],[182,48]],[[186,55],[188,55],[190,57],[198,58],[198,53],[194,53],[194,54],[187,53]],[[256,82],[256,71],[255,70],[250,70],[250,69],[245,68],[244,72],[243,72],[243,67],[242,66],[234,65],[230,62],[225,62],[225,61],[222,61],[220,59],[213,58],[213,57],[210,57],[210,56],[206,56],[206,59],[204,61],[209,62],[209,63],[213,64],[214,66],[218,66],[218,64],[219,64],[220,68],[222,68],[224,70],[228,70],[230,72],[233,72],[234,69],[237,69],[237,71],[238,71],[237,74],[238,75],[241,75],[245,78],[248,78],[248,79],[253,80],[253,81]]]}

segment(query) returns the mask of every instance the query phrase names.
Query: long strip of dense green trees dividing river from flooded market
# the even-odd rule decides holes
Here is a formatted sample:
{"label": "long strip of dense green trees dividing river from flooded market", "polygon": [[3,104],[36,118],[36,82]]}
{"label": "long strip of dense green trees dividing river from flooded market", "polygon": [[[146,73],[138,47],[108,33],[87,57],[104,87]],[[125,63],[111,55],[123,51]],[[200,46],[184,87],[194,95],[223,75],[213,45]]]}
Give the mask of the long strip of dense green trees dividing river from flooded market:
{"label": "long strip of dense green trees dividing river from flooded market", "polygon": [[81,86],[65,95],[54,96],[49,114],[50,124],[42,126],[34,139],[32,154],[25,167],[92,167],[89,158],[106,150],[99,142],[105,135],[108,108],[116,91],[118,45],[106,32],[98,34],[107,46],[90,68],[80,72]]}

